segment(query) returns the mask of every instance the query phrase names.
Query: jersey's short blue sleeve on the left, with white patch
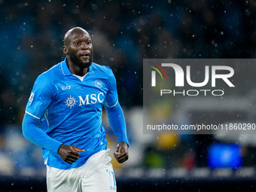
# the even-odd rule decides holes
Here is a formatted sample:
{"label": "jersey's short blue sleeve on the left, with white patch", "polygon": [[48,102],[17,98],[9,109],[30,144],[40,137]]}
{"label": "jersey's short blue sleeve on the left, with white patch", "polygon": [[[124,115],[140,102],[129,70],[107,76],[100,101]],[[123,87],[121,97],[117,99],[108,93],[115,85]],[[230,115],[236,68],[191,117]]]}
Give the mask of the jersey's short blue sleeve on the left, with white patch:
{"label": "jersey's short blue sleeve on the left, with white patch", "polygon": [[26,113],[41,119],[44,111],[52,101],[53,94],[51,90],[50,81],[44,75],[40,75],[36,79],[30,94],[29,101],[26,105]]}

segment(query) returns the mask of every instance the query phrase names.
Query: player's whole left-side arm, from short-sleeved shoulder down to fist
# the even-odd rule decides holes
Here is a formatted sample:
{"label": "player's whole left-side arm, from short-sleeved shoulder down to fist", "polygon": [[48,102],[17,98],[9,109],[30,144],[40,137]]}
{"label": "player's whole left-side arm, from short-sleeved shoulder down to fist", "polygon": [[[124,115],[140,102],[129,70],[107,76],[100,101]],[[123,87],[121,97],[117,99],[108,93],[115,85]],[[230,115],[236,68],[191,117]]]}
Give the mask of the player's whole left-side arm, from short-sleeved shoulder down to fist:
{"label": "player's whole left-side arm, from short-sleeved shoulder down to fist", "polygon": [[29,102],[26,105],[26,114],[23,118],[23,135],[41,148],[59,154],[62,160],[67,163],[73,163],[78,160],[78,151],[83,152],[83,150],[72,145],[63,145],[38,127],[38,121],[52,102],[54,93],[56,92],[54,92],[50,81],[44,75],[40,75],[35,81]]}

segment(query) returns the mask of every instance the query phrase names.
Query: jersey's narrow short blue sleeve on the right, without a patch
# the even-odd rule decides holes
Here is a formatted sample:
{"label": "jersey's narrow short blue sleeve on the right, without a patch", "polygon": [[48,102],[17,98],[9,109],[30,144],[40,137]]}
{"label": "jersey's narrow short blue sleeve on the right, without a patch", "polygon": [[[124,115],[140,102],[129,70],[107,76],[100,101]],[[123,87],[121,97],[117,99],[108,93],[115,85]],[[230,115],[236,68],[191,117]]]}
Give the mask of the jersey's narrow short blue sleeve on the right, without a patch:
{"label": "jersey's narrow short blue sleeve on the right, without a patch", "polygon": [[104,105],[108,108],[114,107],[117,105],[118,96],[117,96],[117,81],[114,78],[114,73],[109,67],[106,67],[108,73],[108,93],[105,96]]}

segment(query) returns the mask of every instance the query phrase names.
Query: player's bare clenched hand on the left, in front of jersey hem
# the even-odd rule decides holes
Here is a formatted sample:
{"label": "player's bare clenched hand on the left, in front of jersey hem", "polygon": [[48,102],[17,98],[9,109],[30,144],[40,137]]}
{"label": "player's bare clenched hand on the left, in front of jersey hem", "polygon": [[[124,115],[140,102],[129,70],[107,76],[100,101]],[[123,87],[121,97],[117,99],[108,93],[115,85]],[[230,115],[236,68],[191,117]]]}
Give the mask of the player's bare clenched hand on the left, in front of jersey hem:
{"label": "player's bare clenched hand on the left, in front of jersey hem", "polygon": [[78,152],[84,152],[83,149],[77,148],[73,145],[60,145],[58,154],[62,157],[62,160],[66,161],[66,163],[72,164],[79,158]]}

